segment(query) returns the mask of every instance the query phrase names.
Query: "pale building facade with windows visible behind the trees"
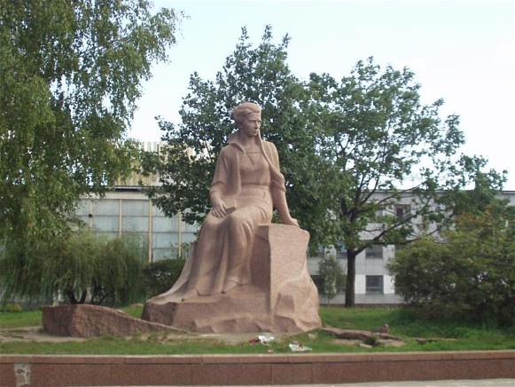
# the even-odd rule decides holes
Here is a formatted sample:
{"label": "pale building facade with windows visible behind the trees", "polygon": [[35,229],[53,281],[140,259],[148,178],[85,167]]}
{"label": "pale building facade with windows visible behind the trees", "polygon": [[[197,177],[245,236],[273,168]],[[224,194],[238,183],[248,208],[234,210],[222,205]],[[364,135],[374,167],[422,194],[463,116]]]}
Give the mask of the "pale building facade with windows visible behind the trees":
{"label": "pale building facade with windows visible behind the trees", "polygon": [[[147,151],[158,150],[157,143],[144,143]],[[191,243],[196,239],[199,225],[187,225],[180,214],[166,217],[152,201],[141,192],[138,186],[143,181],[145,186],[159,184],[156,176],[133,176],[120,182],[116,189],[104,198],[83,198],[78,209],[78,216],[88,225],[92,233],[108,236],[135,235],[141,239],[148,251],[149,262],[164,258],[187,257]],[[384,195],[387,193],[378,193]],[[515,206],[515,191],[504,191],[503,199]],[[378,197],[379,199],[379,197]],[[403,217],[410,210],[410,195],[402,197],[391,209],[391,214]],[[414,219],[417,222],[417,219]],[[371,227],[372,229],[374,227]],[[373,234],[361,235],[363,240],[371,239]],[[324,255],[332,254],[346,272],[347,257],[345,251],[322,249],[316,257],[308,257],[308,270],[316,277],[318,263]],[[395,256],[394,245],[374,245],[356,257],[355,304],[400,304],[402,300],[395,294],[394,280],[386,271],[386,264]],[[344,289],[331,300],[325,299],[320,292],[321,304],[344,304]]]}

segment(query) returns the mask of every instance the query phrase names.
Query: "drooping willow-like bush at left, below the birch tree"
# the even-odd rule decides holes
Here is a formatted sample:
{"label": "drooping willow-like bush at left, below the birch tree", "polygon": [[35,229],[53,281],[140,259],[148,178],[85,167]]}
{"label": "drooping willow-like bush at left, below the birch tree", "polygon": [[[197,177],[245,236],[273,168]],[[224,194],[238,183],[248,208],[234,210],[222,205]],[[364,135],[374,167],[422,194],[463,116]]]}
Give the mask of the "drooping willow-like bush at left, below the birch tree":
{"label": "drooping willow-like bush at left, below the birch tree", "polygon": [[51,249],[37,245],[24,254],[0,254],[4,298],[62,295],[72,304],[82,304],[90,291],[92,304],[126,304],[141,296],[135,285],[144,249],[137,239],[101,240],[90,233],[74,233]]}

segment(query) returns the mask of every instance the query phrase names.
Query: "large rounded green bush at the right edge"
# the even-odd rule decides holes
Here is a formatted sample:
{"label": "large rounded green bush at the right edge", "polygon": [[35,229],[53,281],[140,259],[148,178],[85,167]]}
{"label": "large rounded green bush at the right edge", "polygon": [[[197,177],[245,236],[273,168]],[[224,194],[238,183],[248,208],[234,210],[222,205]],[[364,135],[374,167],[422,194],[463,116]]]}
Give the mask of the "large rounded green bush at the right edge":
{"label": "large rounded green bush at the right edge", "polygon": [[388,265],[396,293],[421,316],[515,319],[515,209],[464,213],[441,239],[425,237]]}

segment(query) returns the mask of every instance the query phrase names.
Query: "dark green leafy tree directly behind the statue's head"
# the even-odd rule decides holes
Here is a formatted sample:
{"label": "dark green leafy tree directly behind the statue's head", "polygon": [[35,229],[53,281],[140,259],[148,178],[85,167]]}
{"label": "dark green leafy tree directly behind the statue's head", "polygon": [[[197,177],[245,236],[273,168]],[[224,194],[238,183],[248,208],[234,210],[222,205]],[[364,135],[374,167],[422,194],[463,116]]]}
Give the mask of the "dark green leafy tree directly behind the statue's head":
{"label": "dark green leafy tree directly behind the statue's head", "polygon": [[162,183],[147,194],[169,217],[183,212],[185,222],[201,223],[210,207],[208,191],[216,157],[234,130],[230,111],[241,102],[253,101],[263,108],[263,137],[277,146],[293,217],[312,234],[316,246],[328,217],[324,198],[316,189],[320,181],[312,133],[316,128],[309,123],[306,89],[286,64],[290,38],[274,44],[272,37],[271,28],[266,27],[261,43],[253,47],[243,28],[215,81],[191,75],[191,92],[180,111],[182,122],[160,121],[167,146],[161,154],[144,154],[144,170],[157,172]]}

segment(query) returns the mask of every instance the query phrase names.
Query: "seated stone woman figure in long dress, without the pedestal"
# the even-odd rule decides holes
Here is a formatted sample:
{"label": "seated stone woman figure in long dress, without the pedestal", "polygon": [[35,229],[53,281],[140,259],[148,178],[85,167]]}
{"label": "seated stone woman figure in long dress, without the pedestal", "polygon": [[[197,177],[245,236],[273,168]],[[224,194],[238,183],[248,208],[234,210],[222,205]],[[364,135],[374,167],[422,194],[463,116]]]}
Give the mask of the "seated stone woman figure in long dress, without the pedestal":
{"label": "seated stone woman figure in long dress, without the pedestal", "polygon": [[261,139],[261,107],[245,102],[230,117],[238,130],[230,134],[216,162],[209,190],[213,207],[181,276],[157,298],[185,301],[251,283],[256,227],[271,223],[274,208],[285,225],[299,226],[286,203],[276,146]]}

